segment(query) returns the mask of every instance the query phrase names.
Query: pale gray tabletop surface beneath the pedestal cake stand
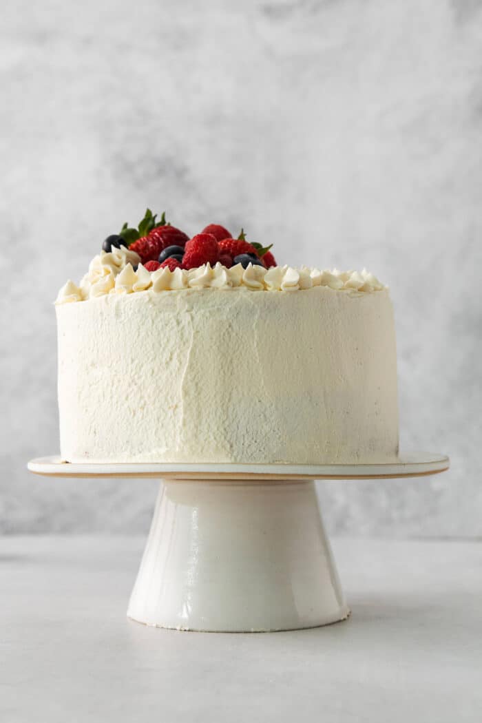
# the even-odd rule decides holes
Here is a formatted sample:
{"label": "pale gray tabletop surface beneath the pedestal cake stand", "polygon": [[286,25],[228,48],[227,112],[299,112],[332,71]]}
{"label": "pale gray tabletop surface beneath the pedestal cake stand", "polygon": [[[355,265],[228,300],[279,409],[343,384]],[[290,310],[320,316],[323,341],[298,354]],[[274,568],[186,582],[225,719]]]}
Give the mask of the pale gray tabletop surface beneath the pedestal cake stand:
{"label": "pale gray tabletop surface beneath the pedestal cake stand", "polygon": [[126,620],[144,539],[0,539],[2,723],[482,720],[482,543],[335,539],[352,616],[292,633]]}

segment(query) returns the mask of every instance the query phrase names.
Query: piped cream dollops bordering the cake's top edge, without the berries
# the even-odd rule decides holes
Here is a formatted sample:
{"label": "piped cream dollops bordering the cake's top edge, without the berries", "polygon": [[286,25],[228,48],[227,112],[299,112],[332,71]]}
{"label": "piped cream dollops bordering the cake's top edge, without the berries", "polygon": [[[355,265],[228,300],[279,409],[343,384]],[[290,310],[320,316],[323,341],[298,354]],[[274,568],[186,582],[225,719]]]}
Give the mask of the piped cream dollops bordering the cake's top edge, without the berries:
{"label": "piped cream dollops bordering the cake's top edge, without the berries", "polygon": [[[135,271],[134,266],[137,267]],[[319,270],[306,266],[275,266],[265,269],[253,264],[244,269],[241,264],[226,268],[217,263],[214,267],[204,264],[189,270],[176,268],[171,271],[165,267],[150,273],[140,262],[138,254],[121,247],[110,253],[100,252],[93,258],[79,286],[68,281],[59,291],[56,304],[85,301],[106,294],[133,294],[147,290],[155,294],[184,288],[291,292],[304,291],[313,286],[327,286],[334,291],[350,294],[371,294],[387,288],[366,269],[361,272]]]}

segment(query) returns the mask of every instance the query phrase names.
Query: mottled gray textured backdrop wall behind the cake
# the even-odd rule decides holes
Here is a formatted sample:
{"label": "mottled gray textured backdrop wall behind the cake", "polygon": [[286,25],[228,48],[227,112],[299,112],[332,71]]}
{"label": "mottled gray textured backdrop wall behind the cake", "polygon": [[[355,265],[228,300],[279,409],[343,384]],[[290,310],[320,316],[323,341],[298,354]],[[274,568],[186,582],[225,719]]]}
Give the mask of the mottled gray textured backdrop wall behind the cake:
{"label": "mottled gray textured backdrop wall behind the cake", "polygon": [[330,529],[481,535],[481,3],[4,0],[1,14],[0,529],[147,529],[155,482],[55,482],[25,462],[58,450],[56,291],[150,205],[389,283],[402,445],[447,451],[452,470],[322,484]]}

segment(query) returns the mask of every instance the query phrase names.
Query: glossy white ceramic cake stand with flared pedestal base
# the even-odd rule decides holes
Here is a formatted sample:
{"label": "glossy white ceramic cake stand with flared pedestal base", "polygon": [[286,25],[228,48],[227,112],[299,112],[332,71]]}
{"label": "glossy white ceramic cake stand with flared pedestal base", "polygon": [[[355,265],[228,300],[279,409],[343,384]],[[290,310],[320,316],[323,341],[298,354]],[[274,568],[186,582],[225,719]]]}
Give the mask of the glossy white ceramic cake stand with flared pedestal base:
{"label": "glossy white ceramic cake stand with flared pedestal base", "polygon": [[357,465],[28,463],[35,474],[160,477],[128,617],[177,630],[313,628],[348,617],[315,479],[436,474],[444,455]]}

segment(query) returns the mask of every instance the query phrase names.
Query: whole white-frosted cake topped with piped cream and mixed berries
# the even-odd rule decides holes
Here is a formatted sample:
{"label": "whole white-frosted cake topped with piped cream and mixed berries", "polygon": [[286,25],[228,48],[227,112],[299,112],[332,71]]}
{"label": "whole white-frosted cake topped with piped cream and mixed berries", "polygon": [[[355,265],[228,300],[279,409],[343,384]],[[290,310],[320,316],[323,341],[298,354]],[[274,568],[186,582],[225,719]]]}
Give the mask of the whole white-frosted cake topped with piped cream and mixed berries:
{"label": "whole white-frosted cake topped with piped cream and mixed berries", "polygon": [[244,234],[189,240],[148,211],[56,317],[65,461],[397,460],[392,303],[366,270],[278,266]]}

